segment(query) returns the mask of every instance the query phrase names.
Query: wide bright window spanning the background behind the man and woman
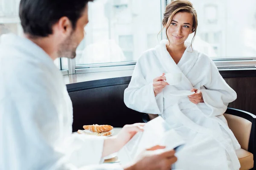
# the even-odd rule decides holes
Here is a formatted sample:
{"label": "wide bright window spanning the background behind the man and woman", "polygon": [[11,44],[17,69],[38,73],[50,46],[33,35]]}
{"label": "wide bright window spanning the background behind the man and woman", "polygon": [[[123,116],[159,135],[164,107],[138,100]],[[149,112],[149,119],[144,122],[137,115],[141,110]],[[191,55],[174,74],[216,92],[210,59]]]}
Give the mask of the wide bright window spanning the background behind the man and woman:
{"label": "wide bright window spanning the background behind the man and woman", "polygon": [[[166,39],[166,2],[172,0],[96,0],[76,59],[55,64],[64,74],[133,69],[143,51]],[[190,0],[198,14],[193,48],[212,57],[218,68],[256,67],[256,1]],[[22,34],[19,0],[0,0],[0,35]],[[246,9],[238,12],[238,9]],[[193,34],[189,36],[192,40]],[[243,62],[239,62],[242,60]],[[236,61],[236,62],[234,62]]]}

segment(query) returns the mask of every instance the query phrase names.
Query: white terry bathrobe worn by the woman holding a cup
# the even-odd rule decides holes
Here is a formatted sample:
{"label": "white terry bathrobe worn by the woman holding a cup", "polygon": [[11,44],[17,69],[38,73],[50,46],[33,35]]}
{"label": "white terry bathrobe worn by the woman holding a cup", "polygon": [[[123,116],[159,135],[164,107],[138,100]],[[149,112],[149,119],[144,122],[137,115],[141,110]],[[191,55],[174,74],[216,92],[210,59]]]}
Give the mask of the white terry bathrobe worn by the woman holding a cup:
{"label": "white terry bathrobe worn by the woman holding a cup", "polygon": [[[238,170],[235,150],[240,148],[227,126],[223,113],[236,99],[212,60],[187,45],[176,64],[166,50],[167,40],[142,54],[125,89],[124,102],[128,108],[143,113],[158,114],[177,131],[186,145],[176,154],[173,168],[183,170]],[[178,85],[167,85],[154,96],[153,79],[163,73],[181,72]],[[198,105],[188,97],[171,96],[171,91],[200,89],[204,102]]]}

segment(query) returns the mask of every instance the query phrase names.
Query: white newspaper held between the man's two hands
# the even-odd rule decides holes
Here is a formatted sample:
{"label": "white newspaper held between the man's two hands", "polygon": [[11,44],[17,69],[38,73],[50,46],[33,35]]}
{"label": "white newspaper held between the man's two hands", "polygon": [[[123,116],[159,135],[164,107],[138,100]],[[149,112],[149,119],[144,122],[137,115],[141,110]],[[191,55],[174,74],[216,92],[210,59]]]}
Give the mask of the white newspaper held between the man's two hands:
{"label": "white newspaper held between the man's two hands", "polygon": [[171,129],[161,117],[149,121],[144,126],[144,131],[139,132],[119,151],[122,164],[129,164],[144,150],[155,145],[166,146],[165,150],[172,150],[185,144],[185,141]]}

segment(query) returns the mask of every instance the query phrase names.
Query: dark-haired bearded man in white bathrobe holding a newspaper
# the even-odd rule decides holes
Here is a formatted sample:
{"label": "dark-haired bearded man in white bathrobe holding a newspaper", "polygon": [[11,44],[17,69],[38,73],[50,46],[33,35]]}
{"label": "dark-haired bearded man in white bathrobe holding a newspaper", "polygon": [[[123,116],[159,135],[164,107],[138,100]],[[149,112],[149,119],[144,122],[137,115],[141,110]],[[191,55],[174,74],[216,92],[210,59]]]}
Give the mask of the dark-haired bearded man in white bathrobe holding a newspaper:
{"label": "dark-haired bearded man in white bathrobe holding a newspaper", "polygon": [[164,147],[155,146],[126,167],[97,165],[143,124],[126,125],[109,138],[71,135],[72,103],[53,60],[76,57],[88,1],[21,0],[24,37],[1,37],[1,170],[169,170],[177,160],[173,150],[157,152]]}

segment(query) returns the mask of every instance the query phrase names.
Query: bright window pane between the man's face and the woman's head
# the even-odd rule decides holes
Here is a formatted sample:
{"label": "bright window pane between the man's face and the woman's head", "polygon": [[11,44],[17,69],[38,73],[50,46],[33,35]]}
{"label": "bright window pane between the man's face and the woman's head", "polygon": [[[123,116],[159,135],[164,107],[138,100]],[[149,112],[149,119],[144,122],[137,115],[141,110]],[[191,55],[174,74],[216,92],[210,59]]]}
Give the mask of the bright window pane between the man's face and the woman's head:
{"label": "bright window pane between the man's face and the woman's head", "polygon": [[89,24],[77,48],[76,64],[136,61],[149,46],[157,44],[160,29],[158,0],[89,3]]}

